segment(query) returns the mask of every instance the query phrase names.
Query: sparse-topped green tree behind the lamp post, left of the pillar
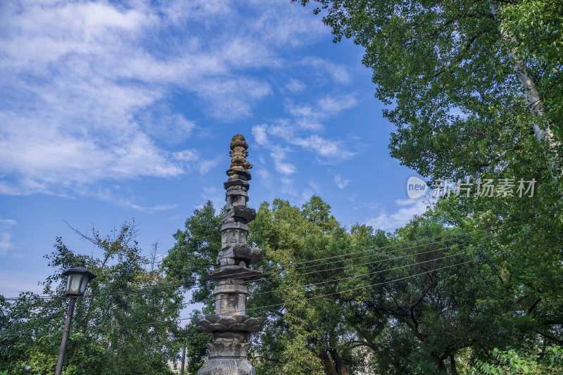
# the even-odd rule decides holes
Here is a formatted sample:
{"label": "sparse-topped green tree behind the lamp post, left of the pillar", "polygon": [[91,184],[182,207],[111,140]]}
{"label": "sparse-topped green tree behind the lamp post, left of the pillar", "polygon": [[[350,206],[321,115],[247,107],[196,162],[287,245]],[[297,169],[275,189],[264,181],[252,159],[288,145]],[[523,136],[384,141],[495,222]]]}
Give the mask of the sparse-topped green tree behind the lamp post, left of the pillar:
{"label": "sparse-topped green tree behind the lamp post, left of the pillar", "polygon": [[[170,288],[159,265],[142,255],[134,224],[126,223],[102,236],[82,234],[95,250],[78,255],[57,238],[46,255],[55,272],[44,282],[44,295],[21,293],[0,298],[0,368],[19,374],[25,366],[52,373],[61,343],[67,301],[65,269],[84,261],[97,277],[77,300],[63,374],[172,374],[168,361],[177,358],[175,319],[182,294]],[[158,285],[158,286],[155,286]]]}

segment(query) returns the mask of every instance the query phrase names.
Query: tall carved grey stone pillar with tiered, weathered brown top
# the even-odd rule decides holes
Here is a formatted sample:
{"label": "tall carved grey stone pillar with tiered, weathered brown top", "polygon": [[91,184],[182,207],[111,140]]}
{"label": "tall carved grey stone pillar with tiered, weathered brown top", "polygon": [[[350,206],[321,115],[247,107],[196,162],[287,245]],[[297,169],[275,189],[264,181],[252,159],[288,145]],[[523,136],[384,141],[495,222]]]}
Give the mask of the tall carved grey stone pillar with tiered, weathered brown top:
{"label": "tall carved grey stone pillar with tiered, weathered brown top", "polygon": [[262,279],[262,267],[253,269],[251,264],[262,259],[262,250],[246,243],[248,223],[254,220],[255,210],[248,208],[248,181],[252,165],[246,161],[248,144],[241,134],[231,139],[231,168],[224,182],[227,211],[222,217],[221,251],[217,256],[220,268],[209,273],[219,281],[215,295],[215,315],[194,319],[205,332],[213,333],[208,343],[209,359],[198,375],[254,375],[254,367],[246,359],[251,343],[248,333],[258,331],[266,318],[253,318],[246,314],[248,281]]}

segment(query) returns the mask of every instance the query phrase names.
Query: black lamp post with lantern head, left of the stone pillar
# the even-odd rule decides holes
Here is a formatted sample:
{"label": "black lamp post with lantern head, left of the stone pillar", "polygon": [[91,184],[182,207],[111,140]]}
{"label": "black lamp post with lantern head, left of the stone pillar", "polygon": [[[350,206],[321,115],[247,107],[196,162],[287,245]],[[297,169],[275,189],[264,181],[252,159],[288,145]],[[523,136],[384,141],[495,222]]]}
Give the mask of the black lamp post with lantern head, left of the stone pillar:
{"label": "black lamp post with lantern head, left of the stone pillar", "polygon": [[61,371],[63,371],[66,345],[68,343],[68,333],[70,332],[70,324],[72,324],[72,314],[75,312],[76,299],[84,295],[88,281],[96,279],[96,275],[94,273],[84,268],[84,262],[81,262],[80,266],[78,267],[67,269],[65,272],[63,272],[63,276],[67,277],[65,297],[70,298],[70,301],[68,304],[68,311],[66,312],[63,341],[61,341],[61,349],[58,351],[58,361],[55,375],[61,375]]}

